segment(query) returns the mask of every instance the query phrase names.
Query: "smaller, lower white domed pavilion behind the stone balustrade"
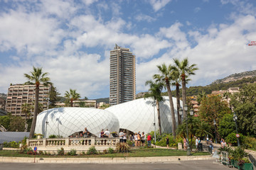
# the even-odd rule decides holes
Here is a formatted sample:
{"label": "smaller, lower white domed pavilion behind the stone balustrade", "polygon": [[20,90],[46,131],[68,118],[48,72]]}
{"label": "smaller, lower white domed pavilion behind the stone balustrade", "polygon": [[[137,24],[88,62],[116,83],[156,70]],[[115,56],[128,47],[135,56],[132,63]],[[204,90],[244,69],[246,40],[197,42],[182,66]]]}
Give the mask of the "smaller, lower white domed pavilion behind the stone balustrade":
{"label": "smaller, lower white domed pavilion behind the stone balustrade", "polygon": [[98,136],[102,129],[119,132],[119,121],[113,113],[97,108],[52,108],[37,116],[35,133],[68,137],[85,127]]}

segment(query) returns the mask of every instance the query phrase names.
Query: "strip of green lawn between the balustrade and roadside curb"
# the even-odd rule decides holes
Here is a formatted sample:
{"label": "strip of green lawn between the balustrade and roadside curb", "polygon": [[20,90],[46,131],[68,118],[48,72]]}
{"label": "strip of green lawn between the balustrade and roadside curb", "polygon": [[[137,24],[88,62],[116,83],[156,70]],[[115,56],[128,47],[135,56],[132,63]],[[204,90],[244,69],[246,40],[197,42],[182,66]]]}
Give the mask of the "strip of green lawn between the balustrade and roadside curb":
{"label": "strip of green lawn between the balustrade and roadside curb", "polygon": [[[192,156],[209,155],[208,152],[192,152]],[[128,153],[114,154],[92,154],[76,156],[59,156],[59,155],[36,155],[36,157],[170,157],[186,156],[186,151],[171,149],[133,149]],[[19,151],[0,150],[0,157],[34,157],[31,154],[20,154]]]}

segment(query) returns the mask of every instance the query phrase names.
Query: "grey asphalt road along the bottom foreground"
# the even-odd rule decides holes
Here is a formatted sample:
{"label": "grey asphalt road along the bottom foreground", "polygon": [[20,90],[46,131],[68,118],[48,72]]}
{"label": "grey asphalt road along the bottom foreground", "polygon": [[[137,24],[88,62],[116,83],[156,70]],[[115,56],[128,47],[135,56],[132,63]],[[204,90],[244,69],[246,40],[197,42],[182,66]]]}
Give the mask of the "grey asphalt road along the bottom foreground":
{"label": "grey asphalt road along the bottom foreground", "polygon": [[213,160],[203,160],[203,161],[183,161],[183,162],[169,162],[169,163],[154,163],[154,164],[27,164],[27,163],[0,163],[0,169],[2,170],[68,170],[68,169],[104,169],[104,170],[131,170],[131,169],[142,169],[142,170],[164,170],[164,169],[178,169],[178,170],[188,170],[188,169],[212,169],[221,170],[229,169],[227,166],[220,165],[219,163],[214,163]]}

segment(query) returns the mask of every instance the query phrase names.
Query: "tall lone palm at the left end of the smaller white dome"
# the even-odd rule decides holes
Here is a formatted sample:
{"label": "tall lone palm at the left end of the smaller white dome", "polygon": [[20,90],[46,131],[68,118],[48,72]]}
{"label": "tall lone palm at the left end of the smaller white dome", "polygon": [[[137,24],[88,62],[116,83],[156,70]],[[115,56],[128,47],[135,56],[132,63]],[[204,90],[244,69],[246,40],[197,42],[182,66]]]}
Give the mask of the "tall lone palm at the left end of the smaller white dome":
{"label": "tall lone palm at the left end of the smaller white dome", "polygon": [[48,75],[47,72],[43,73],[42,68],[36,68],[33,67],[33,72],[31,72],[31,75],[24,74],[24,77],[28,79],[28,81],[25,84],[33,84],[36,86],[35,90],[35,106],[34,106],[34,112],[33,112],[33,120],[31,124],[31,130],[29,133],[29,138],[31,139],[35,133],[36,128],[36,116],[38,115],[38,95],[39,95],[39,85],[43,84],[44,86],[48,86],[50,83],[50,78],[46,77]]}

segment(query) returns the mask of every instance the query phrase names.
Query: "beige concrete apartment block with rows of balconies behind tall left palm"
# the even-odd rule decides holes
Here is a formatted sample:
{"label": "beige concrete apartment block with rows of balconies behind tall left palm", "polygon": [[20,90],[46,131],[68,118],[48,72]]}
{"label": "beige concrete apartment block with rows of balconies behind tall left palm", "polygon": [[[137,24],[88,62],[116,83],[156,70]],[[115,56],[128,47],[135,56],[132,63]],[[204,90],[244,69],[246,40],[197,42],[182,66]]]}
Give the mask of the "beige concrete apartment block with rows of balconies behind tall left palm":
{"label": "beige concrete apartment block with rows of balconies behind tall left palm", "polygon": [[[35,85],[23,85],[15,84],[11,85],[8,89],[8,94],[6,98],[6,111],[11,113],[11,115],[20,115],[25,117],[25,114],[21,113],[21,105],[23,103],[28,103],[33,105],[35,101]],[[39,86],[39,103],[43,104],[43,111],[47,109],[48,106],[48,94],[50,92],[50,86]],[[31,111],[33,115],[33,111]]]}

